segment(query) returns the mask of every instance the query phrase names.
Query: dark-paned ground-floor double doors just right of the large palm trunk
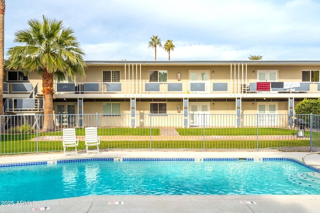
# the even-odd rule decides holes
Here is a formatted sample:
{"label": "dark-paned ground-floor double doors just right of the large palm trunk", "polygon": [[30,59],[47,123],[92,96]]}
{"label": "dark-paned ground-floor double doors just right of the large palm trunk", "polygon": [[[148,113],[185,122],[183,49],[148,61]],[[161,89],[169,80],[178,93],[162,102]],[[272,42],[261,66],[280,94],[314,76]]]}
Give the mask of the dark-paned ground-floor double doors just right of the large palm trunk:
{"label": "dark-paned ground-floor double doors just right of the large palm trunk", "polygon": [[70,126],[75,125],[75,104],[57,104],[56,105],[56,126]]}

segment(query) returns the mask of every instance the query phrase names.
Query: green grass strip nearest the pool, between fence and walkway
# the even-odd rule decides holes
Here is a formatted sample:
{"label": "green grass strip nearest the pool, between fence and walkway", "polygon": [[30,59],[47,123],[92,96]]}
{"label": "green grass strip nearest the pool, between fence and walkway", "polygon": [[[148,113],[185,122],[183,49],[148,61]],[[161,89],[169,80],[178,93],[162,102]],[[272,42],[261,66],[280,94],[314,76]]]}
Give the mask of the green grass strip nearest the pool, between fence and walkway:
{"label": "green grass strip nearest the pool, between fence and walkway", "polygon": [[[284,149],[308,147],[309,140],[290,141],[101,141],[100,149]],[[79,141],[78,150],[84,150]],[[63,151],[61,141],[9,141],[0,143],[0,154]]]}

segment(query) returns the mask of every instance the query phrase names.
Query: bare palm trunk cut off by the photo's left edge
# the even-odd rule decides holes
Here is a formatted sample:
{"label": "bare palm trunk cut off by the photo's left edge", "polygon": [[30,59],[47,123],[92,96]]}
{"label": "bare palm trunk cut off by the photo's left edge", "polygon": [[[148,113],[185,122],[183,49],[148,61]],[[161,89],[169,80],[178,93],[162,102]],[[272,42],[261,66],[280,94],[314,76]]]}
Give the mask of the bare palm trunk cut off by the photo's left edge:
{"label": "bare palm trunk cut off by the photo's left edge", "polygon": [[[5,2],[0,0],[0,115],[3,115],[3,76],[4,76],[4,11]],[[2,118],[1,118],[2,122]]]}

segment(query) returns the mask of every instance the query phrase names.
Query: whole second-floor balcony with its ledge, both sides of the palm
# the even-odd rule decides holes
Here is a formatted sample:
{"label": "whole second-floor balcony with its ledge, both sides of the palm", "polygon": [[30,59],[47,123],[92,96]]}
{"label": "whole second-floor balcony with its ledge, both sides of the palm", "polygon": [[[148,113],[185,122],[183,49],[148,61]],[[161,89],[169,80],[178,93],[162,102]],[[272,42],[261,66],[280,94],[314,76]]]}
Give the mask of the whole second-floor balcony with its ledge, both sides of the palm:
{"label": "whole second-floor balcony with its ledge, both sides of the palm", "polygon": [[[320,94],[319,82],[240,82],[215,80],[202,82],[88,82],[56,83],[55,98],[125,98],[125,97],[293,97],[316,98]],[[37,84],[3,83],[3,98],[35,98]]]}

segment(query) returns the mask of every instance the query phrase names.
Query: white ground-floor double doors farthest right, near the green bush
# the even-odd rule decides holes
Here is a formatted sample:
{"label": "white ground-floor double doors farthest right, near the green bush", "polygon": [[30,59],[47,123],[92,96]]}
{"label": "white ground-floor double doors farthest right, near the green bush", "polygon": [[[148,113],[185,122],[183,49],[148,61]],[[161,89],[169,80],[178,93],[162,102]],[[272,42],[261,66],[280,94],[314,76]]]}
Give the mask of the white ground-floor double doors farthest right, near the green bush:
{"label": "white ground-floor double doors farthest right, near the green bush", "polygon": [[276,126],[277,125],[277,104],[258,103],[258,125]]}

